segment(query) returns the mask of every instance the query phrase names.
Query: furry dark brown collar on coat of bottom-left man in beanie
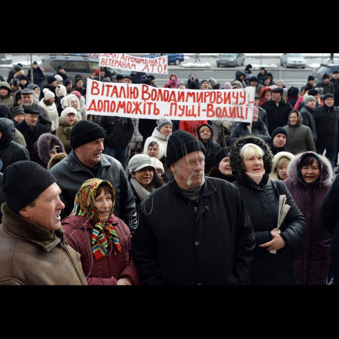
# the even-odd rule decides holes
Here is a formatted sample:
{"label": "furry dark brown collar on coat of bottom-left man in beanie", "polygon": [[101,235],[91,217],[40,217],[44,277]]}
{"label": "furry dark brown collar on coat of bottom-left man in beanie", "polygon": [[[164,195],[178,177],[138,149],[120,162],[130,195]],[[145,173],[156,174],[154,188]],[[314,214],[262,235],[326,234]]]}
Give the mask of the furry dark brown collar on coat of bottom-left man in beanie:
{"label": "furry dark brown collar on coat of bottom-left man in beanie", "polygon": [[5,229],[16,238],[27,239],[43,247],[46,252],[52,250],[61,241],[66,243],[63,238],[64,231],[62,227],[58,231],[51,233],[13,213],[6,203],[2,204],[1,212]]}

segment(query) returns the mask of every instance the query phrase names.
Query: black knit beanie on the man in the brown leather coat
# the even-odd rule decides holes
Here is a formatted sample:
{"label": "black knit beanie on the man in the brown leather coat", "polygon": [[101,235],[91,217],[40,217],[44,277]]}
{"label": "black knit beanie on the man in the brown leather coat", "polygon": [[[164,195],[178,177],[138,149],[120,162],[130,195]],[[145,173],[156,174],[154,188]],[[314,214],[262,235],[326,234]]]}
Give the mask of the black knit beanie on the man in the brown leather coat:
{"label": "black knit beanie on the man in the brown leather coat", "polygon": [[35,162],[19,161],[3,172],[1,187],[8,208],[17,214],[56,182],[51,172]]}

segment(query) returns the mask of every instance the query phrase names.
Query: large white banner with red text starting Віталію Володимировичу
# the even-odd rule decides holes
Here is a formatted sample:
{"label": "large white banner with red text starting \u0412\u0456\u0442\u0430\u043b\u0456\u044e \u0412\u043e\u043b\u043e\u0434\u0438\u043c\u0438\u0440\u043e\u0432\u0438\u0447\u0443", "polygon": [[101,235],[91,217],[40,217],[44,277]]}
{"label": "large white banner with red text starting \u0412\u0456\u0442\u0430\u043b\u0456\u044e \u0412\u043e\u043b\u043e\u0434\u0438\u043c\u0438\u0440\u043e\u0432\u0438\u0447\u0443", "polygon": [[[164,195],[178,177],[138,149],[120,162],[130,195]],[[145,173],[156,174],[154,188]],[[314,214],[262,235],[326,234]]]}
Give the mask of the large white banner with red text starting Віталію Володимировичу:
{"label": "large white banner with red text starting \u0412\u0456\u0442\u0430\u043b\u0456\u044e \u0412\u043e\u043b\u043e\u0434\u0438\u043c\u0438\u0440\u043e\u0432\u0438\u0447\u0443", "polygon": [[252,123],[255,88],[199,91],[87,80],[87,114]]}

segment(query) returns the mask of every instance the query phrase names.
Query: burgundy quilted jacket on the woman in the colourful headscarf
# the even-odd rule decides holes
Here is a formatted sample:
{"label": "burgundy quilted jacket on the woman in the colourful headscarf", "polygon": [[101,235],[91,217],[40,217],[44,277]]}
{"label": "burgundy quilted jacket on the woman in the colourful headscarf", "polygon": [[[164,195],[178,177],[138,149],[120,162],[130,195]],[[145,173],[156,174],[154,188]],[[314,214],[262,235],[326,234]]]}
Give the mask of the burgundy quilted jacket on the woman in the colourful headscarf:
{"label": "burgundy quilted jacket on the woman in the colourful headscarf", "polygon": [[68,216],[61,223],[68,244],[81,255],[82,269],[89,285],[114,286],[122,277],[129,277],[134,285],[140,285],[138,269],[133,262],[131,233],[122,220],[112,216],[109,222],[117,232],[122,251],[119,252],[115,245],[111,247],[109,242],[108,253],[112,252],[100,260],[92,254],[94,225],[91,220],[86,216]]}

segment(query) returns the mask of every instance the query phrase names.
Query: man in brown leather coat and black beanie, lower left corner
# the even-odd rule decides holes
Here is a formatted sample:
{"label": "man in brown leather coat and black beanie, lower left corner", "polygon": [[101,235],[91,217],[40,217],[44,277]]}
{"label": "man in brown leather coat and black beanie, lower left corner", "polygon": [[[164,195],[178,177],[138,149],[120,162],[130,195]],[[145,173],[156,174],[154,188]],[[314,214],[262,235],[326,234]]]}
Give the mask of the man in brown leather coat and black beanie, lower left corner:
{"label": "man in brown leather coat and black beanie, lower left corner", "polygon": [[87,285],[80,256],[63,236],[54,176],[20,161],[4,171],[1,188],[0,285]]}

